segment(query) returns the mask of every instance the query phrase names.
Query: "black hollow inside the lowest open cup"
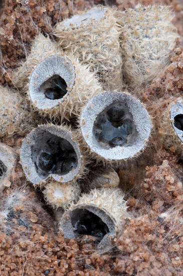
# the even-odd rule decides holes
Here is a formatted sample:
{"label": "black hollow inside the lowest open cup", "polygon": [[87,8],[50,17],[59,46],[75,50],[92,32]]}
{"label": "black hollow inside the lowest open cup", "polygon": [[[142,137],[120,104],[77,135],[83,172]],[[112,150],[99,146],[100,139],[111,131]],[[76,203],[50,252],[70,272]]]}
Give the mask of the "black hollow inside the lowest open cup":
{"label": "black hollow inside the lowest open cup", "polygon": [[101,240],[109,233],[107,224],[87,209],[76,208],[72,212],[71,223],[76,235],[91,235]]}

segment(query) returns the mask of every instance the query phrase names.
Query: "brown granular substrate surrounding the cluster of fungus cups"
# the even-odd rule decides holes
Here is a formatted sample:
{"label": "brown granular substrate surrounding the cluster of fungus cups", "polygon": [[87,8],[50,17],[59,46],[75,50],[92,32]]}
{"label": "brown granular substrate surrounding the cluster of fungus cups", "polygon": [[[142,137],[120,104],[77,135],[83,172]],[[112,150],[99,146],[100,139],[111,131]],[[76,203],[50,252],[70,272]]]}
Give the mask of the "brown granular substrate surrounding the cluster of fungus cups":
{"label": "brown granular substrate surrounding the cluster of fungus cups", "polygon": [[[73,6],[67,4],[68,9],[59,12],[54,2],[30,0],[29,6],[21,0],[8,2],[0,29],[4,84],[11,85],[11,70],[25,59],[38,31],[51,33],[58,19],[97,3],[74,1]],[[59,2],[63,5],[63,1]],[[170,2],[176,14],[174,24],[182,35],[182,2]],[[177,43],[170,55],[171,64],[143,91],[143,101],[155,116],[159,114],[158,100],[182,96],[182,62]],[[22,137],[5,137],[2,142],[19,151]],[[171,151],[154,149],[150,157],[137,164],[140,169],[119,170],[129,216],[120,237],[102,254],[96,251],[91,236],[68,240],[58,234],[51,208],[43,202],[39,190],[26,184],[18,164],[12,186],[4,191],[0,210],[1,275],[183,275],[183,157]],[[139,170],[142,179],[136,177]],[[14,205],[9,202],[11,209],[7,209],[6,199],[14,193],[19,200]]]}

